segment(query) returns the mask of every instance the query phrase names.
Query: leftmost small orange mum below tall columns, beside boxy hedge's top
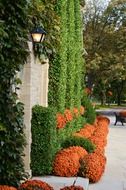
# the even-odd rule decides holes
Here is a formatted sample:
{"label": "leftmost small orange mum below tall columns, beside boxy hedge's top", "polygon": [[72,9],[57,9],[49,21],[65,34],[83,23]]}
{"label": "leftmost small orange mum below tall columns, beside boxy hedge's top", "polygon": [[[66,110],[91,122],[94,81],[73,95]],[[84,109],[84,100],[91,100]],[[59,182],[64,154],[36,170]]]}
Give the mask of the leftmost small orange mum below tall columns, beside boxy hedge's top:
{"label": "leftmost small orange mum below tall columns, beside boxy hedge's top", "polygon": [[65,117],[64,115],[62,115],[61,113],[58,113],[56,115],[56,120],[57,120],[57,128],[58,129],[61,129],[61,128],[64,128],[65,125],[66,125],[66,120],[65,120]]}

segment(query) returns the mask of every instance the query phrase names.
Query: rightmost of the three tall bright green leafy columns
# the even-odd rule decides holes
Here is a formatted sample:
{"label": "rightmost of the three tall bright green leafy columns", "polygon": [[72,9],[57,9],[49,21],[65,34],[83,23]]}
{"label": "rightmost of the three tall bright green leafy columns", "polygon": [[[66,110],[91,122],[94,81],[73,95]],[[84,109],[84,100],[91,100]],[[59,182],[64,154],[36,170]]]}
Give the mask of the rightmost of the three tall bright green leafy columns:
{"label": "rightmost of the three tall bright green leafy columns", "polygon": [[82,93],[82,81],[84,74],[84,62],[82,59],[82,50],[83,50],[83,39],[82,39],[82,23],[81,23],[81,12],[80,12],[80,3],[78,0],[74,0],[75,4],[75,44],[76,44],[76,53],[75,53],[75,64],[76,64],[76,73],[75,73],[75,106],[80,107],[81,105],[81,93]]}

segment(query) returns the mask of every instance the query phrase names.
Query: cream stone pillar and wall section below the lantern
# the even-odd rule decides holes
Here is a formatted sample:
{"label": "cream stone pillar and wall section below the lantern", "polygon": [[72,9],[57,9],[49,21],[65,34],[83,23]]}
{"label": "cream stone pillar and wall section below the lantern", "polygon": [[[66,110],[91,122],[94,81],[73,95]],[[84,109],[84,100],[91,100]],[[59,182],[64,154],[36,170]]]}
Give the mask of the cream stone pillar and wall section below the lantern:
{"label": "cream stone pillar and wall section below the lantern", "polygon": [[20,78],[22,85],[19,98],[24,103],[24,123],[27,145],[24,153],[25,170],[31,175],[30,152],[31,152],[31,117],[32,107],[36,104],[47,107],[48,104],[48,60],[40,64],[34,57],[32,43],[29,42],[30,55],[25,64]]}

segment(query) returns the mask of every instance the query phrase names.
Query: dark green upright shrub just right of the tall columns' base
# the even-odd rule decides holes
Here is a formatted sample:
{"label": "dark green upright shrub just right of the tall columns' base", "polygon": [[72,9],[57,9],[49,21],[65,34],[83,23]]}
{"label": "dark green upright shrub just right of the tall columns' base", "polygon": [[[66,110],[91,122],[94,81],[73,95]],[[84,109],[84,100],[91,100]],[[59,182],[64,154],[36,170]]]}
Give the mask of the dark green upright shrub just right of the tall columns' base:
{"label": "dark green upright shrub just right of the tall columns' base", "polygon": [[96,112],[86,94],[83,94],[81,104],[86,110],[84,117],[86,118],[87,123],[93,124],[96,118]]}

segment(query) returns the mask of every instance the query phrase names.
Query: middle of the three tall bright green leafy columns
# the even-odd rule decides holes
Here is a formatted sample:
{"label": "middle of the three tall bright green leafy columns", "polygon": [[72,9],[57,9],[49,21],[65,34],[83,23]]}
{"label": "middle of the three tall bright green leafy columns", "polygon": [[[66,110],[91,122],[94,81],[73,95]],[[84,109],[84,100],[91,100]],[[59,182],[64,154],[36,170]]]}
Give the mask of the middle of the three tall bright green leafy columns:
{"label": "middle of the three tall bright green leafy columns", "polygon": [[75,17],[74,0],[67,1],[67,90],[66,107],[74,107],[75,84]]}

